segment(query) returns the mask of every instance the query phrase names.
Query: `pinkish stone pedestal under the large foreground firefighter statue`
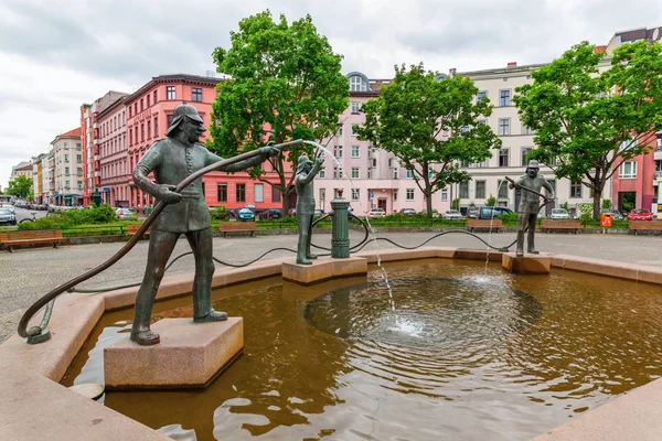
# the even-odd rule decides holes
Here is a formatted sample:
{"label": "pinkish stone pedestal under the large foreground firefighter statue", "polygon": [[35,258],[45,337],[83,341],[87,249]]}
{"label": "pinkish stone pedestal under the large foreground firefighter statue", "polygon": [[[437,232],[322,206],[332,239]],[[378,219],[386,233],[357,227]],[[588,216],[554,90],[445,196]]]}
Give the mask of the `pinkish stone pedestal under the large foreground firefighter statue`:
{"label": "pinkish stone pedestal under the large foreground firefighter statue", "polygon": [[151,326],[161,343],[140,346],[126,338],[104,349],[106,389],[204,387],[244,348],[244,320],[194,323],[163,319]]}

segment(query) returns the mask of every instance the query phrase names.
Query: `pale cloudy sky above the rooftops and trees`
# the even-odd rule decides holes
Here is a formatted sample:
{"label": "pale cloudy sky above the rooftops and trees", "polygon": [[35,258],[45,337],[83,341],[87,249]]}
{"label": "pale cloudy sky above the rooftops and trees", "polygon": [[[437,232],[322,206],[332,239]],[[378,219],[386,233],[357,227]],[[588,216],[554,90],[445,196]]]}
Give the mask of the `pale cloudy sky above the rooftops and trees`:
{"label": "pale cloudy sky above the rooftops and trees", "polygon": [[587,40],[662,25],[659,0],[1,0],[0,186],[12,165],[79,126],[79,108],[152,76],[215,71],[212,52],[249,15],[310,14],[343,73],[393,77],[547,63]]}

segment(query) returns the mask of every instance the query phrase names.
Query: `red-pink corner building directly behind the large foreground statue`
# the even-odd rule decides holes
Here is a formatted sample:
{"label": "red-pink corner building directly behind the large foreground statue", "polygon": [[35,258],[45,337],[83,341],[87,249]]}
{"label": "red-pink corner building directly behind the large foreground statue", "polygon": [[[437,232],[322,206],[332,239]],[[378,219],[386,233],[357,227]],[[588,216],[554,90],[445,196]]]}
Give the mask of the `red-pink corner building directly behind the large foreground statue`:
{"label": "red-pink corner building directly behind the large foreground statue", "polygon": [[[162,75],[153,77],[140,89],[125,99],[127,111],[128,203],[130,207],[143,211],[151,207],[153,197],[136,187],[131,173],[140,158],[159,138],[166,137],[173,111],[180,104],[194,106],[205,127],[211,125],[212,104],[216,98],[215,86],[221,79],[194,75]],[[209,131],[207,131],[209,133]],[[265,181],[277,182],[278,175],[267,173]],[[273,191],[265,182],[253,181],[245,172],[211,172],[203,176],[203,189],[207,206],[227,208],[254,207],[279,208],[280,193]]]}

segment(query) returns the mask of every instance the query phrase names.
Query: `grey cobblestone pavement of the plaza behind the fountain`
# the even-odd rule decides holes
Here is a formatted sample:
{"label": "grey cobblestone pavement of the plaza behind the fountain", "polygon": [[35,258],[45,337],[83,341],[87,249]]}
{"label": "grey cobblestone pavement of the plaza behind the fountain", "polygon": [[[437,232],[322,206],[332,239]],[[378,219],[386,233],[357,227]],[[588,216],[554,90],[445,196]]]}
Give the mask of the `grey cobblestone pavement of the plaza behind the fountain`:
{"label": "grey cobblestone pavement of the plaza behind the fountain", "polygon": [[[415,246],[431,237],[433,233],[397,233],[377,234],[377,237],[405,245]],[[514,234],[480,235],[494,246],[503,246],[515,239]],[[352,232],[352,239],[360,235]],[[316,235],[313,241],[322,246],[330,244],[329,235]],[[543,251],[565,252],[584,257],[596,257],[630,263],[662,266],[662,237],[624,236],[624,235],[572,235],[540,234],[536,236],[537,247]],[[245,262],[258,257],[261,252],[276,248],[296,248],[297,237],[292,235],[214,238],[214,256],[232,262]],[[15,332],[23,311],[36,299],[44,295],[53,287],[64,283],[74,277],[96,267],[113,256],[124,243],[65,246],[58,249],[34,248],[18,249],[13,254],[0,251],[0,342]],[[433,240],[429,245],[467,247],[484,249],[477,239],[466,235],[446,235]],[[81,287],[98,288],[114,284],[139,282],[145,272],[147,241],[140,241],[114,267]],[[366,249],[373,248],[369,245]],[[393,245],[380,241],[380,249],[393,248]],[[374,248],[373,248],[374,249]],[[173,257],[189,251],[185,239],[180,239]],[[276,257],[293,257],[292,252],[275,251],[266,259]],[[216,271],[223,267],[216,265]],[[193,272],[193,257],[186,256],[178,260],[168,271],[169,275]]]}

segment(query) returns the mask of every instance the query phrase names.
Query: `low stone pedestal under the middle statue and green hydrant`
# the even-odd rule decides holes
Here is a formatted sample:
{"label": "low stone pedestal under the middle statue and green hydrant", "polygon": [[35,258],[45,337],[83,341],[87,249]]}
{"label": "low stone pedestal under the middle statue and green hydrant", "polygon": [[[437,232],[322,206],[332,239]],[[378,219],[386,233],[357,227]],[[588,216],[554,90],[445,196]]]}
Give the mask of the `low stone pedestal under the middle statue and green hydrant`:
{"label": "low stone pedestal under the middle statue and green hydrant", "polygon": [[333,259],[320,257],[312,265],[282,263],[282,278],[299,284],[313,284],[338,277],[352,277],[367,275],[367,259],[363,257],[348,257]]}

